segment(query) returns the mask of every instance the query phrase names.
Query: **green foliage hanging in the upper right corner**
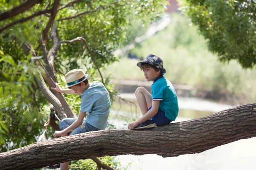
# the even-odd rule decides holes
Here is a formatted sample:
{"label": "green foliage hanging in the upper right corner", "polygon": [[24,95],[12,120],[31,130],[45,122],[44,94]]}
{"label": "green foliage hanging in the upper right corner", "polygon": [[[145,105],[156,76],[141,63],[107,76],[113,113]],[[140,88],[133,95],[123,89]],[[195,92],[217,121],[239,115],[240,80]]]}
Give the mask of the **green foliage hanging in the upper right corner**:
{"label": "green foliage hanging in the upper right corner", "polygon": [[207,39],[209,51],[222,62],[256,65],[255,0],[182,0],[180,8]]}

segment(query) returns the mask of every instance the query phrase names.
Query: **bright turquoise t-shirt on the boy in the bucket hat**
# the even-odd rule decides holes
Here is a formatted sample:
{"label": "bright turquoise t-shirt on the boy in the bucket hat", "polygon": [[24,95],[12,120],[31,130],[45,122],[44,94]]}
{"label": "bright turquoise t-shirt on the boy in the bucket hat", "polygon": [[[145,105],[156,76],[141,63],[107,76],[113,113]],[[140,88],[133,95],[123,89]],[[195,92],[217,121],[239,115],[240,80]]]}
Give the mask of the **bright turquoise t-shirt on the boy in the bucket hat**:
{"label": "bright turquoise t-shirt on the boy in the bucket hat", "polygon": [[166,117],[175,121],[179,106],[176,91],[172,83],[160,75],[151,85],[152,100],[160,100],[159,108],[165,112]]}

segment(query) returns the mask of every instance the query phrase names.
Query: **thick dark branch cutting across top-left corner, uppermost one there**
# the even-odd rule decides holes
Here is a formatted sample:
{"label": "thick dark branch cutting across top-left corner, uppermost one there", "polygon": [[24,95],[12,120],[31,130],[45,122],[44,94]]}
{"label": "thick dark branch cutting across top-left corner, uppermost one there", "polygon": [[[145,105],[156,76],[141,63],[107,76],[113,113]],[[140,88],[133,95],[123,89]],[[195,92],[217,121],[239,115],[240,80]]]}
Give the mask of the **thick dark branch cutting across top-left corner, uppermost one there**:
{"label": "thick dark branch cutting across top-left corner, uppermost one there", "polygon": [[27,0],[26,2],[20,4],[19,6],[15,6],[14,8],[10,9],[9,11],[5,11],[0,14],[0,21],[6,20],[8,18],[15,17],[17,14],[20,14],[32,6],[35,6],[37,3],[42,3],[43,0]]}

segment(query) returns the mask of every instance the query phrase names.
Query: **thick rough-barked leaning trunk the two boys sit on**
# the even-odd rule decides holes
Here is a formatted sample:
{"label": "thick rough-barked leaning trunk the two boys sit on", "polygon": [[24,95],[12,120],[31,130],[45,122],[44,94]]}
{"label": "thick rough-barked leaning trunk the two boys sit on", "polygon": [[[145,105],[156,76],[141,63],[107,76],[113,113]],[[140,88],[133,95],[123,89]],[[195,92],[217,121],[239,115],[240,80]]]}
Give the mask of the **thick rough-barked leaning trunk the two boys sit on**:
{"label": "thick rough-barked leaning trunk the two boys sit on", "polygon": [[0,169],[36,169],[91,156],[201,153],[256,136],[256,103],[150,130],[101,130],[81,133],[0,153]]}

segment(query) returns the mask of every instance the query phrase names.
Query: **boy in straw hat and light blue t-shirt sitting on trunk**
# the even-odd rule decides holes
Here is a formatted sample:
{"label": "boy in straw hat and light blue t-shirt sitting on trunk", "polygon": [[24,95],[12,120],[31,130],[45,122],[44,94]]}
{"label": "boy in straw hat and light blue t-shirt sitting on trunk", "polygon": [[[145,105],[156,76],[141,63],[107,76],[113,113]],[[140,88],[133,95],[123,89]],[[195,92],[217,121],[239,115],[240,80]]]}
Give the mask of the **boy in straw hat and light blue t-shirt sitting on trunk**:
{"label": "boy in straw hat and light blue t-shirt sitting on trunk", "polygon": [[[83,70],[73,69],[65,75],[65,88],[69,89],[61,89],[58,83],[55,83],[56,88],[51,88],[60,93],[81,94],[78,117],[62,119],[59,122],[61,131],[53,133],[55,138],[68,136],[70,131],[70,135],[75,135],[106,128],[111,105],[108,91],[101,82],[89,82],[87,78],[88,74]],[[68,164],[69,162],[61,163],[61,170],[67,170]]]}

